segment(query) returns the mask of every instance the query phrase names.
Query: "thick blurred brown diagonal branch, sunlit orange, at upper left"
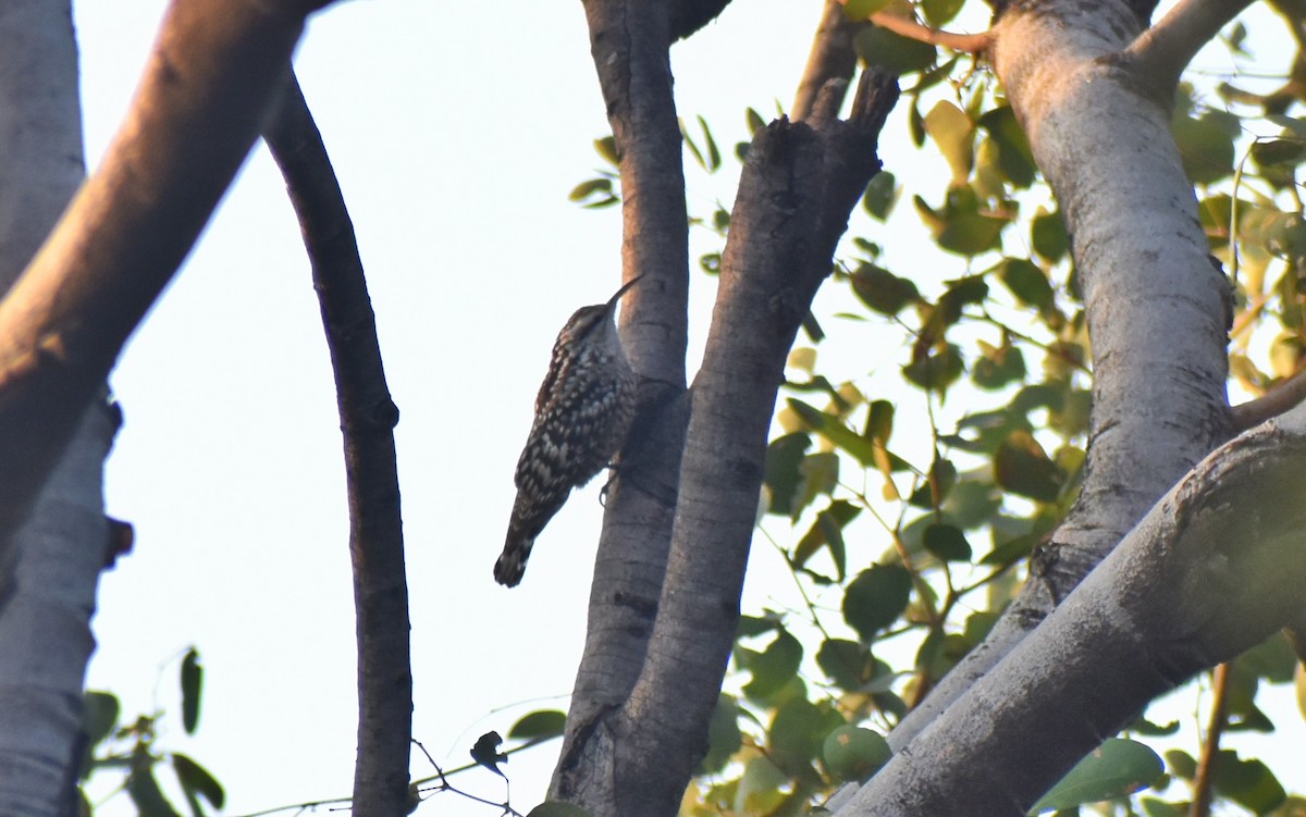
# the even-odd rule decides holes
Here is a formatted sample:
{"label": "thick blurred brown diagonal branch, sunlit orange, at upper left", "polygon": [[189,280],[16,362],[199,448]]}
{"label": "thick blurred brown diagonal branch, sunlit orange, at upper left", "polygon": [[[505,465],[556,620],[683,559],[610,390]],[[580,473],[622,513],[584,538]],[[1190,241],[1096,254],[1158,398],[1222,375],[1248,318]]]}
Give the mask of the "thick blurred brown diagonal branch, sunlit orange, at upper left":
{"label": "thick blurred brown diagonal branch, sunlit orange, at upper left", "polygon": [[170,7],[103,163],[0,303],[0,561],[249,151],[320,5]]}

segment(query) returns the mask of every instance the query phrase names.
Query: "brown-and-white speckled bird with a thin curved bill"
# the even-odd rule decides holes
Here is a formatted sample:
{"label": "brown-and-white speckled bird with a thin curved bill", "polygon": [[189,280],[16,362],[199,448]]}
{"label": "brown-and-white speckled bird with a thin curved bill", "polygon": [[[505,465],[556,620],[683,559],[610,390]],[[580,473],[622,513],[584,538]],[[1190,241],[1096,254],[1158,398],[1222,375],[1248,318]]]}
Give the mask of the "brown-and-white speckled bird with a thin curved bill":
{"label": "brown-and-white speckled bird with a thin curved bill", "polygon": [[517,459],[517,499],[495,581],[521,582],[535,536],[572,488],[594,478],[620,450],[635,419],[637,378],[616,334],[616,304],[640,277],[607,303],[581,307],[567,321],[535,397],[535,419]]}

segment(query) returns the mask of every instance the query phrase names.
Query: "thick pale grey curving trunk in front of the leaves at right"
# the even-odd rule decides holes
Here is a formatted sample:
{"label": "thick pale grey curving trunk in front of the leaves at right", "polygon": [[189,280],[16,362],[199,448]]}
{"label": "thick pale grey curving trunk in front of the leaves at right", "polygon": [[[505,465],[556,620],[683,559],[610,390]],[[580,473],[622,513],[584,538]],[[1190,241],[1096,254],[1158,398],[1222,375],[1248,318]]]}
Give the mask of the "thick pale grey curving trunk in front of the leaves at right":
{"label": "thick pale grey curving trunk in front of the leaves at right", "polygon": [[[895,749],[996,664],[1229,433],[1229,283],[1211,265],[1192,185],[1158,98],[1121,52],[1121,1],[1010,8],[993,60],[1072,236],[1093,346],[1079,501],[985,643],[891,733]],[[1092,157],[1092,159],[1087,159]]]}

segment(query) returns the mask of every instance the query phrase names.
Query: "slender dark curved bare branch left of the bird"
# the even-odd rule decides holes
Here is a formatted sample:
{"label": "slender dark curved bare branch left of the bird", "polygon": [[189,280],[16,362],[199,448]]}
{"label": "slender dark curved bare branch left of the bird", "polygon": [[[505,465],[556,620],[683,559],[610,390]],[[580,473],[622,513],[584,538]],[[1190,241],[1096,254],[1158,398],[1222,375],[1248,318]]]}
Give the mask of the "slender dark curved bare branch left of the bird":
{"label": "slender dark curved bare branch left of the bird", "polygon": [[358,615],[353,813],[406,813],[413,673],[394,424],[376,317],[340,183],[294,74],[264,129],[299,217],[345,435],[349,552]]}

